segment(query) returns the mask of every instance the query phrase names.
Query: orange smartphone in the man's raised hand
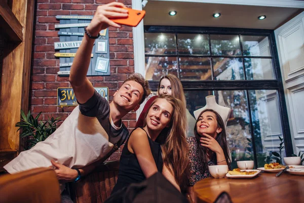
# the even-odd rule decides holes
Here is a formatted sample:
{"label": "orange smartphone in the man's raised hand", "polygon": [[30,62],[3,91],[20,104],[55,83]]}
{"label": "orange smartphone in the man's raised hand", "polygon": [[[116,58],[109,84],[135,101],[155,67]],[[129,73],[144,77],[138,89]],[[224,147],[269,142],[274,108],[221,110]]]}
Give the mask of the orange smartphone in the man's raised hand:
{"label": "orange smartphone in the man's raised hand", "polygon": [[118,24],[136,27],[145,15],[145,11],[139,11],[139,10],[134,10],[134,9],[129,9],[129,8],[124,8],[124,9],[127,9],[129,11],[128,12],[129,15],[127,18],[113,18],[110,20],[113,22],[116,22]]}

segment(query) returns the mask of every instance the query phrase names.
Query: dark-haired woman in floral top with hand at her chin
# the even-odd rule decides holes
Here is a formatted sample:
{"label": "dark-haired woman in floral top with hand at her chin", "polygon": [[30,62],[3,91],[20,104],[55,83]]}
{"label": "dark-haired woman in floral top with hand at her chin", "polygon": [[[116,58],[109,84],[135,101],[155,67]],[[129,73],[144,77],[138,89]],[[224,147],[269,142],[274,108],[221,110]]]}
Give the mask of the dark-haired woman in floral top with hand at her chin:
{"label": "dark-haired woman in floral top with hand at her chin", "polygon": [[228,165],[230,168],[231,163],[225,125],[216,111],[212,109],[202,111],[197,119],[194,134],[195,137],[187,138],[190,165],[188,192],[193,199],[194,184],[211,176],[208,165]]}

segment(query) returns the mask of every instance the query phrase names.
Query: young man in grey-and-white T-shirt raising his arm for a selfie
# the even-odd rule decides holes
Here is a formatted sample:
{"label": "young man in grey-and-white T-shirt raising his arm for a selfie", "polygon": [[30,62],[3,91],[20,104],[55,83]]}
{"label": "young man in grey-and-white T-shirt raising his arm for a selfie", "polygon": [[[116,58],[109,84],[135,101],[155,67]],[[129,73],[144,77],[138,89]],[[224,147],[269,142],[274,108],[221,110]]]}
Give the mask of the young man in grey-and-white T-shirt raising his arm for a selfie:
{"label": "young man in grey-and-white T-shirt raising his arm for a selfie", "polygon": [[125,5],[117,2],[97,7],[70,70],[69,81],[80,105],[46,141],[21,152],[5,165],[9,173],[52,163],[59,180],[75,181],[90,173],[125,142],[129,132],[122,118],[136,111],[150,94],[148,82],[140,74],[131,74],[108,104],[86,77],[96,36],[109,26],[121,27],[109,18],[126,18],[128,11],[123,8]]}

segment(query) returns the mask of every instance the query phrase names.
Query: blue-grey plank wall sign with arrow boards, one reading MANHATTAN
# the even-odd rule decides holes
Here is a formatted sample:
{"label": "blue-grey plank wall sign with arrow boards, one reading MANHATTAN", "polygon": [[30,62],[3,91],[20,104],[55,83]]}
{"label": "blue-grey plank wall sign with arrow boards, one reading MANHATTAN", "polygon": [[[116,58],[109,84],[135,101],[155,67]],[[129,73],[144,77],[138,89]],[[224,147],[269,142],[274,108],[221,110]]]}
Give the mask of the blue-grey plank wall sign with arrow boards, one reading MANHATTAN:
{"label": "blue-grey plank wall sign with arrow boards, one reading MANHATTAN", "polygon": [[[54,55],[59,57],[60,70],[58,75],[60,77],[68,77],[75,53],[85,35],[84,27],[90,24],[93,16],[57,15],[56,19],[60,21],[60,24],[55,25],[55,28],[59,29],[58,36],[60,42],[54,43],[54,49],[57,51]],[[108,39],[108,29],[101,30],[100,36],[96,39],[93,46],[87,76],[110,75]]]}

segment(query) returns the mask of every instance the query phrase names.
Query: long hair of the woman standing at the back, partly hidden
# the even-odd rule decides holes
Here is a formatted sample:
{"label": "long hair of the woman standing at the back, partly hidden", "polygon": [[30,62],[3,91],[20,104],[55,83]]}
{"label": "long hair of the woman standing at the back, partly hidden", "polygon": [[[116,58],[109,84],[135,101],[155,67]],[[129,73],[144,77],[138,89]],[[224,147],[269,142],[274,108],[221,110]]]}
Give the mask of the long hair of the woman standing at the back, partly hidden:
{"label": "long hair of the woman standing at the back, partly hidden", "polygon": [[188,131],[188,122],[187,122],[187,116],[186,116],[186,108],[187,108],[186,105],[187,105],[187,103],[186,103],[186,97],[185,97],[185,94],[184,94],[184,91],[183,91],[182,84],[181,84],[180,80],[175,75],[172,75],[172,74],[165,75],[161,78],[161,80],[159,82],[159,85],[158,85],[158,88],[157,88],[158,94],[159,94],[159,91],[160,91],[161,82],[165,78],[170,81],[171,88],[172,88],[172,90],[171,90],[172,91],[172,96],[174,98],[178,98],[179,100],[181,100],[182,109],[181,109],[180,118],[183,118],[182,119],[182,121],[183,121],[182,122],[182,127],[186,131],[186,135],[187,135],[187,131]]}

